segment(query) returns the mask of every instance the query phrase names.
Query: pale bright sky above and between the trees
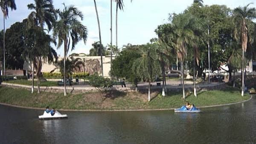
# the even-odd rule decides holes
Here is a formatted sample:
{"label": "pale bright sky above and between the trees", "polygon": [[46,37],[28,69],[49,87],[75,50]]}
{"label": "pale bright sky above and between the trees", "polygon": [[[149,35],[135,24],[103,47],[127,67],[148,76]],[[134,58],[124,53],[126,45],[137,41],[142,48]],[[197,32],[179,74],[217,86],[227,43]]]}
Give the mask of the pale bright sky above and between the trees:
{"label": "pale bright sky above and between the trees", "polygon": [[[118,47],[131,43],[140,45],[149,42],[151,38],[157,37],[154,30],[157,25],[168,23],[168,14],[180,13],[190,6],[193,0],[123,0],[124,10],[118,11]],[[6,28],[15,22],[22,22],[28,17],[31,10],[27,5],[34,0],[15,0],[17,10],[9,11],[9,18],[6,20]],[[74,5],[84,14],[81,21],[88,29],[87,42],[79,42],[72,53],[89,54],[93,42],[99,41],[99,31],[96,19],[96,12],[93,0],[53,0],[55,8],[63,9],[62,3],[66,6]],[[101,26],[102,44],[110,44],[110,0],[96,0],[99,20]],[[256,7],[256,0],[204,0],[204,5],[226,5],[229,8],[244,6],[254,3],[251,7]],[[113,45],[116,44],[115,30],[115,3],[113,3]],[[3,29],[3,15],[0,16],[0,30]],[[56,49],[56,48],[55,48]],[[57,54],[63,56],[63,46],[57,50]]]}

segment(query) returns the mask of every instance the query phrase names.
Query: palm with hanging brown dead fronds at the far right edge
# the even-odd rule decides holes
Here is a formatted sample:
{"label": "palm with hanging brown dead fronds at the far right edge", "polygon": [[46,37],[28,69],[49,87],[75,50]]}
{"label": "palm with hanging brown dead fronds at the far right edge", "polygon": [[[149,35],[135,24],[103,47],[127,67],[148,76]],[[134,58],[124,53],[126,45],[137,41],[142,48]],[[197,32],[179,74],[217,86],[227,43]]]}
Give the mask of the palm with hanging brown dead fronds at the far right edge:
{"label": "palm with hanging brown dead fronds at the far right edge", "polygon": [[241,96],[244,96],[244,53],[247,49],[247,42],[248,42],[248,26],[250,20],[256,18],[256,9],[255,8],[248,8],[250,6],[249,3],[247,6],[238,7],[234,9],[235,21],[238,24],[238,28],[240,32],[237,34],[240,35],[241,46],[242,46],[242,90]]}

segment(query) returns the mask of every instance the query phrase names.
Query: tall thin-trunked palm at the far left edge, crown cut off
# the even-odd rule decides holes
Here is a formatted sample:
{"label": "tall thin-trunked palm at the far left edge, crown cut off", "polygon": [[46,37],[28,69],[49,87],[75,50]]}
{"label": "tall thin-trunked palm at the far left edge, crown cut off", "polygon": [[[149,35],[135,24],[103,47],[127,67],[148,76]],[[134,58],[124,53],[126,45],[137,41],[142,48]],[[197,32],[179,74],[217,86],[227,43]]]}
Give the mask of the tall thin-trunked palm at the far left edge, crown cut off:
{"label": "tall thin-trunked palm at the far left edge, crown cut off", "polygon": [[15,0],[0,0],[0,6],[3,12],[3,73],[6,76],[6,69],[5,69],[5,19],[9,17],[9,10],[16,10]]}

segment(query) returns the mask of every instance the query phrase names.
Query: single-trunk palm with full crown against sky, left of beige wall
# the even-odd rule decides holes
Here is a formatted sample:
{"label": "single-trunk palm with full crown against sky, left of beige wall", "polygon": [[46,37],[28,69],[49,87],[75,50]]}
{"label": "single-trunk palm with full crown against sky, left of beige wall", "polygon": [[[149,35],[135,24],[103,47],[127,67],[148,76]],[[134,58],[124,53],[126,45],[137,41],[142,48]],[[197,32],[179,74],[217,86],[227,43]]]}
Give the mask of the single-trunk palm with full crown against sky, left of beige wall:
{"label": "single-trunk palm with full crown against sky, left of beige wall", "polygon": [[58,46],[60,48],[64,42],[64,96],[67,95],[67,88],[66,88],[66,57],[68,51],[75,48],[75,45],[80,41],[83,40],[84,44],[87,40],[87,28],[86,26],[82,25],[79,22],[78,18],[83,20],[83,14],[74,6],[65,6],[63,11],[57,10],[59,20],[55,23],[53,29],[53,36],[58,38]]}

